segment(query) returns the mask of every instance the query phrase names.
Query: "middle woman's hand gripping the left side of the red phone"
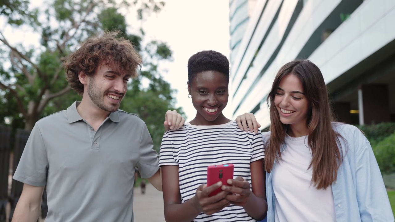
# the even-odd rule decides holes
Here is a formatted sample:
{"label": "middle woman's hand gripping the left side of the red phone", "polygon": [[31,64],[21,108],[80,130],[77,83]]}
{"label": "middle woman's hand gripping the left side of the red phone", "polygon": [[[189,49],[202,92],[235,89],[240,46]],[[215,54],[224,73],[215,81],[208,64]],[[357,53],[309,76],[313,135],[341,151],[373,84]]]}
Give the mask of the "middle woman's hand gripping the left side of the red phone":
{"label": "middle woman's hand gripping the left side of the red phone", "polygon": [[222,182],[217,182],[211,186],[201,184],[196,190],[195,205],[199,212],[211,215],[229,206],[229,201],[224,199],[229,192],[221,191],[218,194],[209,197],[209,194],[222,186]]}

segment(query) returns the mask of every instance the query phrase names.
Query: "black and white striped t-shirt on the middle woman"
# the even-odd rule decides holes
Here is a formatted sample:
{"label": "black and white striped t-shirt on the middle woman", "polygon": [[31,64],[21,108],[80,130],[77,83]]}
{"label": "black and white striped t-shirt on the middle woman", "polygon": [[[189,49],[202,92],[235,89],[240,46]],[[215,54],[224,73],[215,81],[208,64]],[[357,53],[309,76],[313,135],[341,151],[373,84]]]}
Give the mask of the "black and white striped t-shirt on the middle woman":
{"label": "black and white striped t-shirt on the middle woman", "polygon": [[[265,157],[262,134],[240,130],[235,121],[215,126],[184,124],[167,131],[160,147],[159,166],[178,165],[181,202],[194,197],[207,183],[207,166],[234,164],[234,178],[251,184],[250,163]],[[210,216],[199,214],[194,222],[255,222],[243,207],[229,205]]]}

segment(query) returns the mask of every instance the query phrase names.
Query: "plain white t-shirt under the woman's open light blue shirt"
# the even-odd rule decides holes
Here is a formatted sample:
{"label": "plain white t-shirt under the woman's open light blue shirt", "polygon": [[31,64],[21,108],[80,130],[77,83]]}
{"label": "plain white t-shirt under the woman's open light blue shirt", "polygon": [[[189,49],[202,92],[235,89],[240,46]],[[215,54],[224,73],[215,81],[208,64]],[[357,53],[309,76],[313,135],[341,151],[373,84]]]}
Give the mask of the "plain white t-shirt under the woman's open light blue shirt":
{"label": "plain white t-shirt under the woman's open light blue shirt", "polygon": [[332,187],[317,190],[312,183],[312,154],[308,137],[286,135],[282,161],[273,169],[275,222],[336,221]]}

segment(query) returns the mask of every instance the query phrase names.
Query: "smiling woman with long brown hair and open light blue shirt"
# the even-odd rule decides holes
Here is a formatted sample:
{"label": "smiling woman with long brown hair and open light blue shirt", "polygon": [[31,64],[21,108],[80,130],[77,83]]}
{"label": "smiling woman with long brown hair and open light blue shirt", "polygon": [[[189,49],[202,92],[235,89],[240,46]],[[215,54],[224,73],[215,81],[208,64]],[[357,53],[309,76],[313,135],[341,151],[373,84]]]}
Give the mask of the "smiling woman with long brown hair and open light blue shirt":
{"label": "smiling woman with long brown hair and open light blue shirt", "polygon": [[[333,121],[315,64],[282,66],[267,103],[268,221],[394,221],[369,141],[355,126]],[[251,113],[236,121],[245,130],[260,127]]]}

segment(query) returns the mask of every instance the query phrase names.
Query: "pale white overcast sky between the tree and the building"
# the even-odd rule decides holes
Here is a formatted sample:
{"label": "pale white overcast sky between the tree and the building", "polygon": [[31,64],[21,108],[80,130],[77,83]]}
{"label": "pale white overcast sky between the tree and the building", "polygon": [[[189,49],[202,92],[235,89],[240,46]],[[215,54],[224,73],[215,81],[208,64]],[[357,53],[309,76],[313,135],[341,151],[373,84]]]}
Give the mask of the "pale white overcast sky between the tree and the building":
{"label": "pale white overcast sky between the tree and the building", "polygon": [[[31,0],[32,5],[40,6],[43,0]],[[165,8],[153,14],[142,24],[147,39],[166,42],[173,51],[173,61],[162,64],[166,69],[164,78],[176,89],[177,107],[182,107],[187,121],[196,115],[192,102],[188,98],[188,58],[198,51],[215,50],[229,59],[229,1],[228,0],[165,0]],[[126,13],[128,23],[134,23],[135,12]],[[133,24],[130,24],[133,26]],[[15,30],[7,27],[4,20],[0,28],[11,43],[23,42],[36,45],[40,36],[27,30]],[[230,93],[229,93],[230,94]],[[224,114],[231,119],[231,104]]]}

